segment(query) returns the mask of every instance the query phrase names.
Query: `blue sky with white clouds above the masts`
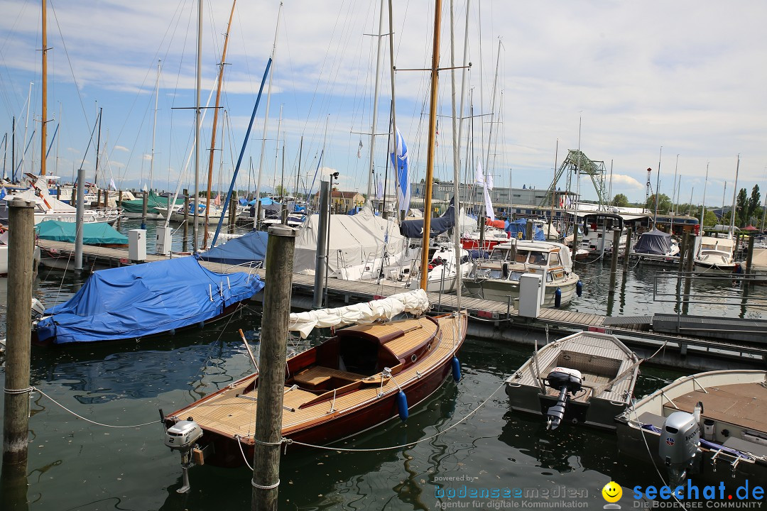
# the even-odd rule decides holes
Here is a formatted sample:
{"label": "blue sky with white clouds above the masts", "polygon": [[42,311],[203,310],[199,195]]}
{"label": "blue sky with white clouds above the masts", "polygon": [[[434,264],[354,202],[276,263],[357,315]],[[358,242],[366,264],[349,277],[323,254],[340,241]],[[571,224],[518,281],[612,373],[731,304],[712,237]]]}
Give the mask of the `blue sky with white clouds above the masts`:
{"label": "blue sky with white clouds above the masts", "polygon": [[[0,16],[0,136],[8,133],[10,139],[15,116],[17,162],[32,140],[25,170],[39,168],[41,152],[39,4],[5,0]],[[161,60],[153,184],[166,188],[170,181],[175,187],[193,146],[196,5],[193,0],[48,0],[48,118],[53,120],[48,143],[58,126],[48,169],[69,180],[84,162],[92,179],[94,148],[87,148],[97,111],[103,109],[106,165],[99,180],[114,179],[123,187],[146,181]],[[449,6],[443,0],[441,67],[450,65]],[[380,3],[285,0],[279,21],[278,7],[271,0],[241,0],[235,6],[216,142],[216,149],[222,150],[216,152],[214,182],[219,175],[229,181],[276,31],[265,152],[262,156],[264,97],[243,153],[239,186],[245,188],[250,181],[255,188],[259,165],[266,185],[281,179],[283,140],[285,179],[295,182],[303,136],[302,183],[311,185],[319,166],[325,172],[340,172],[341,188],[364,192],[370,137],[360,133],[370,133],[372,122],[378,40],[373,34],[379,33]],[[230,2],[203,2],[203,104],[215,86],[231,8]],[[433,10],[433,2],[393,2],[396,119],[410,149],[415,181],[426,169],[429,77],[418,69],[430,66]],[[455,10],[459,65],[465,0],[456,0]],[[725,182],[729,203],[738,155],[738,188],[750,191],[754,184],[767,185],[767,3],[471,0],[468,20],[472,67],[466,102],[470,96],[472,110],[466,106],[463,116],[473,114],[473,121],[464,124],[462,160],[465,165],[467,146],[469,160],[481,160],[483,166],[489,154],[496,185],[507,185],[511,176],[514,186],[547,187],[555,162],[560,165],[568,149],[578,149],[579,143],[587,156],[604,162],[607,172],[613,169],[612,192],[624,193],[631,201],[644,200],[647,168],[653,169],[656,187],[659,159],[661,192],[672,195],[678,169],[683,202],[691,194],[693,201],[703,200],[709,165],[706,203],[722,203]],[[374,155],[381,175],[387,164],[391,100],[389,38],[383,41],[375,129],[380,135]],[[453,175],[450,75],[448,70],[439,74],[439,179]],[[460,85],[457,71],[458,92]],[[203,149],[210,146],[212,125],[212,109],[206,111]],[[497,135],[492,139],[491,126]],[[10,158],[8,148],[6,174],[11,171]],[[202,162],[206,170],[207,157]],[[192,172],[190,168],[182,177],[189,188]],[[466,169],[461,172],[466,175]],[[564,180],[559,186],[565,187]],[[585,198],[596,196],[588,183],[582,191]]]}

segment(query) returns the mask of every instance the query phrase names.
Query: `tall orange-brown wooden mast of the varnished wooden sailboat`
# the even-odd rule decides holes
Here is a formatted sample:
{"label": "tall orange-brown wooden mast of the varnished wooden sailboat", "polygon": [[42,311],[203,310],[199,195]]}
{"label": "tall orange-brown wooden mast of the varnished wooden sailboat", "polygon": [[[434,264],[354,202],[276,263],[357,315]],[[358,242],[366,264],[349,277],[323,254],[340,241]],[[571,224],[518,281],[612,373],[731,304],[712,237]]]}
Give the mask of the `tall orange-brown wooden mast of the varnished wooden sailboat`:
{"label": "tall orange-brown wooden mast of the varnished wooden sailboat", "polygon": [[[434,142],[436,142],[436,90],[439,78],[439,25],[442,0],[434,0],[434,44],[432,47],[431,97],[429,104],[429,149],[426,153],[426,185],[423,196],[423,241],[421,247],[421,289],[426,290],[429,277],[429,236],[431,234],[431,195],[434,174]],[[395,149],[396,150],[396,149]],[[459,263],[461,254],[456,254]]]}

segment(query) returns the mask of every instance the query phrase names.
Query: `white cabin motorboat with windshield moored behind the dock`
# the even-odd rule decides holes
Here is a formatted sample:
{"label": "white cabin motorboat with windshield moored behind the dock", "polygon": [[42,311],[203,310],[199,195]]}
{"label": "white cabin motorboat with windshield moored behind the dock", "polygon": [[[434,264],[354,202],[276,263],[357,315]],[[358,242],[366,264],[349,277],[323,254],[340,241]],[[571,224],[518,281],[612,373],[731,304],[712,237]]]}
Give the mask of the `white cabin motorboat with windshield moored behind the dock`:
{"label": "white cabin motorboat with windshield moored behind the dock", "polygon": [[476,267],[464,286],[474,296],[508,302],[519,297],[519,278],[524,274],[543,277],[543,306],[570,303],[579,280],[572,270],[570,249],[565,245],[512,239],[496,245],[489,259],[476,260]]}

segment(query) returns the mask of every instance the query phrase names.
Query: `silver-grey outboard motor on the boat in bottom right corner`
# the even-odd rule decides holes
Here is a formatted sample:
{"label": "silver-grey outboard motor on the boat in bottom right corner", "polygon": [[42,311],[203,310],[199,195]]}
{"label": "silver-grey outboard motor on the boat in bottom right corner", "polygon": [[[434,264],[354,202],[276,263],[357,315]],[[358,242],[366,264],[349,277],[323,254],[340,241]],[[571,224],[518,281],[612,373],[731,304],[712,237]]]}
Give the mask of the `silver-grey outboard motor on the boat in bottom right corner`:
{"label": "silver-grey outboard motor on the boat in bottom right corner", "polygon": [[[700,412],[699,412],[700,413]],[[680,484],[700,452],[700,426],[696,415],[686,411],[675,411],[663,423],[658,443],[658,455],[670,477],[670,487]]]}

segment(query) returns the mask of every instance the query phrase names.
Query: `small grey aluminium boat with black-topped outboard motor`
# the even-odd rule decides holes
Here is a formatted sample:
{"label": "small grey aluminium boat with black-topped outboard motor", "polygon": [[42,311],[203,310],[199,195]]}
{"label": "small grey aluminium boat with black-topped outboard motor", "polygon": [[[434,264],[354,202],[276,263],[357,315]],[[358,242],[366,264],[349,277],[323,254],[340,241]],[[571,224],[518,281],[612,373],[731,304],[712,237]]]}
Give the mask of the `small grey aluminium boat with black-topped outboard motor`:
{"label": "small grey aluminium boat with black-topped outboard motor", "polygon": [[578,332],[538,349],[506,379],[506,394],[512,411],[542,415],[548,429],[571,422],[614,431],[637,375],[637,355],[616,336]]}

